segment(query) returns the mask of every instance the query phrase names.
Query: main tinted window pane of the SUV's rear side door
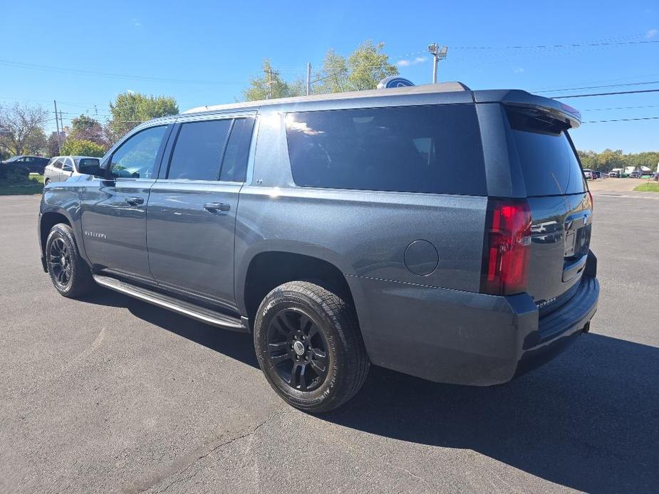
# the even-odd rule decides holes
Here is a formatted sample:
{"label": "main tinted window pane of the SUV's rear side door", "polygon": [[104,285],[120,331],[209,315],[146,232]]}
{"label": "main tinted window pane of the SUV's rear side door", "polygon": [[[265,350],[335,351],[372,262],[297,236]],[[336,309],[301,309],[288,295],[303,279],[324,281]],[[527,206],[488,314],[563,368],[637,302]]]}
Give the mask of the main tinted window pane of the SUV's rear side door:
{"label": "main tinted window pane of the SUV's rear side door", "polygon": [[181,125],[168,179],[217,180],[231,120],[206,120]]}

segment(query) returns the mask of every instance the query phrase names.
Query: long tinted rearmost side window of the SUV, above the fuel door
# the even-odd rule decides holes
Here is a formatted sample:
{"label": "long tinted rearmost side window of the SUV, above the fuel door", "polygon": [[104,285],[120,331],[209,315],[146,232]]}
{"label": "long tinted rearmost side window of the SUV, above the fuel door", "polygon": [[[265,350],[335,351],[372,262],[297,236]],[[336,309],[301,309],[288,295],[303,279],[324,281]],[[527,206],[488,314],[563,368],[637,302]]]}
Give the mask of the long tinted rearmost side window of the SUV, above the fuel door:
{"label": "long tinted rearmost side window of the SUV, above the fuel door", "polygon": [[474,105],[289,113],[286,137],[299,186],[486,195]]}

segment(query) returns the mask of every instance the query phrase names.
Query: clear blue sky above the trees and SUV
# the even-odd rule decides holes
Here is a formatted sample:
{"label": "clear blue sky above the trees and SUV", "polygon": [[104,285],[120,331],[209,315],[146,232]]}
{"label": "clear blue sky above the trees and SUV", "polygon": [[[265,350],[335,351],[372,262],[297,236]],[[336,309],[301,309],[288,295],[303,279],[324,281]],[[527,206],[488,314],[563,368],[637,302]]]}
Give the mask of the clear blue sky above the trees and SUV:
{"label": "clear blue sky above the trees and SUV", "polygon": [[[262,58],[295,78],[307,62],[318,67],[327,48],[348,54],[365,39],[385,43],[400,73],[417,84],[432,77],[430,42],[450,47],[440,81],[474,89],[659,81],[656,0],[2,4],[0,103],[51,109],[57,99],[65,125],[81,112],[93,115],[94,105],[104,120],[110,100],[125,90],[174,96],[180,110],[231,103],[259,73]],[[506,48],[568,44],[580,46]],[[542,94],[651,88],[659,83]],[[564,102],[584,121],[659,116],[659,93]],[[657,150],[659,120],[589,123],[573,137],[580,149]]]}

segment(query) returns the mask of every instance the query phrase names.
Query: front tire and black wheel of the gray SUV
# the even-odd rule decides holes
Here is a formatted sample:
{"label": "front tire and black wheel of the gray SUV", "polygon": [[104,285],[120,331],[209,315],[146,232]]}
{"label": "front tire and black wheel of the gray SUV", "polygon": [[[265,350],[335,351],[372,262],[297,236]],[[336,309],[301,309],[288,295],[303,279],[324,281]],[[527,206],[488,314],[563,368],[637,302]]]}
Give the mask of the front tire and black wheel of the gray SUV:
{"label": "front tire and black wheel of the gray SUV", "polygon": [[53,285],[64,297],[77,298],[95,288],[91,270],[81,258],[73,230],[67,224],[56,224],[48,233],[46,266]]}

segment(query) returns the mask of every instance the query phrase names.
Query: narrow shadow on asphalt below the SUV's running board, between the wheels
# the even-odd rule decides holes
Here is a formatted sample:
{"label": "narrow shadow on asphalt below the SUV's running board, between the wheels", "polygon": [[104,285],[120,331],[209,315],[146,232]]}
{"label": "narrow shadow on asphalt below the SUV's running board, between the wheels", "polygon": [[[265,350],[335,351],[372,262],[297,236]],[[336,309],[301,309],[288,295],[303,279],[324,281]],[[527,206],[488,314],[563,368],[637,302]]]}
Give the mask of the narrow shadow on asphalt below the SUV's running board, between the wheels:
{"label": "narrow shadow on asphalt below the SUV's running board, between the wheels", "polygon": [[125,307],[131,314],[141,320],[260,369],[259,361],[256,360],[256,354],[254,353],[254,342],[251,335],[222,330],[218,327],[197,322],[190,319],[190,317],[178,315],[170,310],[135,300],[128,297],[128,295],[122,295],[111,290],[97,290],[94,295],[85,298],[85,302],[111,307]]}

